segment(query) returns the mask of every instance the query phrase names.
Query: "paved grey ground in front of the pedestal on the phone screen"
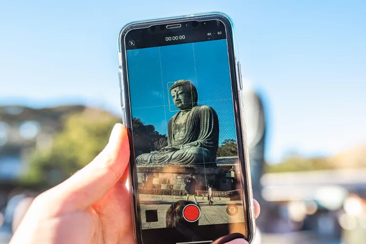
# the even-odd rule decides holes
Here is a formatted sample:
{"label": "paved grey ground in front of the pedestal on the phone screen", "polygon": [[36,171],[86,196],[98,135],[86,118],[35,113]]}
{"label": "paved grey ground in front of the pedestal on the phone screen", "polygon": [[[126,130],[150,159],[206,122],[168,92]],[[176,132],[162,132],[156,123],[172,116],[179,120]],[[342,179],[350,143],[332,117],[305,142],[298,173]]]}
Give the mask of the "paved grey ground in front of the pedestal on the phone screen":
{"label": "paved grey ground in front of the pedestal on the phone screen", "polygon": [[[184,196],[140,195],[142,229],[165,228],[165,214],[173,202],[185,199]],[[230,201],[229,198],[214,198],[213,205],[208,205],[207,197],[196,197],[201,208],[201,217],[198,224],[226,224],[244,222],[244,211],[240,206],[242,201]],[[189,200],[194,201],[189,197]],[[239,211],[235,216],[229,216],[226,207],[229,204],[238,205]],[[146,223],[145,210],[158,210],[158,222]]]}

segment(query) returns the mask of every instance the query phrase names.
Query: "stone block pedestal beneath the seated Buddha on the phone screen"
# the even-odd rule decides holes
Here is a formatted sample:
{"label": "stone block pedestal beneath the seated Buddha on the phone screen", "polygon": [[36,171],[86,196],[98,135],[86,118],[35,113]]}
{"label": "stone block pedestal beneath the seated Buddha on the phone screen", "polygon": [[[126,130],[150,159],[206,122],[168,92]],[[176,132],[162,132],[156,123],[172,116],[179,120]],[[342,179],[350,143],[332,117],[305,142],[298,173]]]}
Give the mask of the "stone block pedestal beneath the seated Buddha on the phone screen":
{"label": "stone block pedestal beneath the seated Buddha on the phone screen", "polygon": [[138,165],[137,177],[141,194],[184,195],[184,178],[193,174],[196,179],[196,191],[207,190],[211,184],[213,190],[221,191],[222,179],[226,173],[222,168],[203,168],[194,165]]}

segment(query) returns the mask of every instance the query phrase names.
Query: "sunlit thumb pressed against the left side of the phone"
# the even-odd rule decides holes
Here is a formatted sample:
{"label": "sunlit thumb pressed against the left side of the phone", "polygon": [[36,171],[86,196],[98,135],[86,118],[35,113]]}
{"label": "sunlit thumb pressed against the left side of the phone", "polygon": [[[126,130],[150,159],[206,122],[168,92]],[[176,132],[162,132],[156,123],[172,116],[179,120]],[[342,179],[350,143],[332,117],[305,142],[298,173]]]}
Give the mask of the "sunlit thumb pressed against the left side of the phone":
{"label": "sunlit thumb pressed against the left side of the phone", "polygon": [[129,155],[127,130],[117,123],[108,144],[91,163],[45,193],[56,202],[53,215],[85,209],[102,199],[121,178]]}

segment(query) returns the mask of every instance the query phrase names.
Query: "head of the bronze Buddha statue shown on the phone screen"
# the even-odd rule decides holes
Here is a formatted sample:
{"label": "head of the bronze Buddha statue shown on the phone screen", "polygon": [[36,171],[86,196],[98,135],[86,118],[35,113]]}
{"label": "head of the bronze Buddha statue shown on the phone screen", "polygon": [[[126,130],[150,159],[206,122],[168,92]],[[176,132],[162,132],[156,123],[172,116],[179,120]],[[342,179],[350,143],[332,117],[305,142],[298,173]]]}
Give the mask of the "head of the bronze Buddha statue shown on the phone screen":
{"label": "head of the bronze Buddha statue shown on the phone screen", "polygon": [[170,87],[174,105],[180,110],[189,110],[197,105],[198,93],[196,87],[187,80],[174,82]]}

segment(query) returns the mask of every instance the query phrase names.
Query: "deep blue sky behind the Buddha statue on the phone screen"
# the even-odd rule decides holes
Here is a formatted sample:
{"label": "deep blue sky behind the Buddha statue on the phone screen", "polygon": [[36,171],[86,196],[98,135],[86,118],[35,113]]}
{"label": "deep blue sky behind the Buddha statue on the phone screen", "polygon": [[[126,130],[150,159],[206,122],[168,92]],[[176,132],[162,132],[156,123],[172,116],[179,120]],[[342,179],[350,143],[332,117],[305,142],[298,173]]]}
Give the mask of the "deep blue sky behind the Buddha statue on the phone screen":
{"label": "deep blue sky behind the Buddha statue on the phone screen", "polygon": [[236,140],[226,40],[128,50],[127,65],[133,117],[167,135],[167,123],[178,112],[168,87],[189,80],[198,104],[218,115],[219,142]]}

